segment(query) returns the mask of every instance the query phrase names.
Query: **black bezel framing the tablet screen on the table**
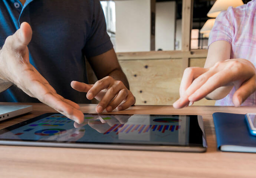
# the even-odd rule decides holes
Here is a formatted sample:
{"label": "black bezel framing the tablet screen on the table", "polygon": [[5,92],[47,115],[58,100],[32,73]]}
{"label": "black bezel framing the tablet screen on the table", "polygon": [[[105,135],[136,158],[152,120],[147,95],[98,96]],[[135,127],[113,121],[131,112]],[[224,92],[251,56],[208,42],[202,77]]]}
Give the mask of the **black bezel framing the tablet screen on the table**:
{"label": "black bezel framing the tablet screen on the table", "polygon": [[[38,121],[42,118],[45,118],[47,116],[50,116],[50,115],[53,115],[53,114],[58,114],[58,113],[45,113],[43,115],[40,115],[40,116],[37,116],[35,118],[32,118],[32,119],[28,119],[26,121],[23,121],[23,122],[20,122],[20,123],[17,123],[17,124],[14,124],[12,126],[9,126],[7,128],[3,128],[0,130],[0,135],[3,134],[3,133],[6,133],[6,132],[9,132],[9,131],[12,131],[14,129],[17,129],[19,127],[22,127],[22,126],[25,126],[29,123],[32,123],[32,122],[35,122],[35,121]],[[95,113],[84,113],[84,114],[93,114],[93,115],[97,115]],[[105,113],[101,113],[99,115],[125,115],[125,116],[131,116],[131,114],[105,114]],[[158,115],[152,115],[152,114],[146,114],[146,115],[150,115],[150,116],[159,116],[161,114],[158,114]],[[163,115],[163,114],[162,114]],[[163,116],[177,116],[177,115],[171,115],[171,114],[164,114]],[[157,146],[157,145],[161,145],[161,146],[190,146],[190,147],[202,147],[202,148],[206,148],[207,146],[204,145],[204,141],[203,139],[206,141],[206,138],[205,138],[205,135],[204,135],[204,132],[201,130],[198,122],[196,124],[192,123],[192,122],[196,122],[198,121],[198,115],[184,115],[184,116],[190,116],[190,124],[189,124],[189,143],[188,145],[164,145],[164,144],[137,144],[137,143],[131,143],[131,144],[128,144],[128,143],[111,143],[111,142],[107,142],[107,143],[103,143],[103,142],[70,142],[70,141],[45,141],[45,140],[29,140],[29,139],[26,139],[26,140],[22,140],[22,139],[0,139],[0,141],[24,141],[24,142],[49,142],[49,143],[65,143],[65,144],[102,144],[102,145],[106,145],[106,144],[111,144],[111,145],[143,145],[143,146]],[[193,119],[191,119],[193,118]],[[192,122],[191,122],[192,121]],[[191,135],[193,135],[191,137]],[[201,139],[199,139],[201,138]]]}

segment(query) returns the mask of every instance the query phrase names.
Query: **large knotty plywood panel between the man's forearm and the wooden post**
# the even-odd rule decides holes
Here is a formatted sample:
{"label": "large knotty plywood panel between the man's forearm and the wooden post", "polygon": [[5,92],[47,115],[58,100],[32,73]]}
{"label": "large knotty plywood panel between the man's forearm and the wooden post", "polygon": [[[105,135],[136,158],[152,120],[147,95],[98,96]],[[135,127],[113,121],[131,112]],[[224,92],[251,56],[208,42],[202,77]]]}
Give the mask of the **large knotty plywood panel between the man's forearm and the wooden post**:
{"label": "large knotty plywood panel between the man's forearm and the wooden post", "polygon": [[179,98],[181,59],[121,60],[137,105],[172,105]]}

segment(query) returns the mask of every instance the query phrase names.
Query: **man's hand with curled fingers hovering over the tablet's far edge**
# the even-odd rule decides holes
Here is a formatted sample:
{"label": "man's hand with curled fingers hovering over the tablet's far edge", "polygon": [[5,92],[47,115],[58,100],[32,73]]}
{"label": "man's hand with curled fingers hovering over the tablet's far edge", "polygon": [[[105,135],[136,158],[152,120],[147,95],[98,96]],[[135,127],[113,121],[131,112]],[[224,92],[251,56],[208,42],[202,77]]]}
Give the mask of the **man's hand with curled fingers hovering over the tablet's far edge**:
{"label": "man's hand with curled fingers hovering over the tablet's far edge", "polygon": [[96,98],[99,104],[96,107],[96,112],[101,113],[106,111],[111,112],[116,107],[118,110],[124,110],[134,105],[135,98],[124,84],[115,80],[110,76],[98,80],[94,85],[72,81],[71,86],[79,92],[87,92],[88,99]]}

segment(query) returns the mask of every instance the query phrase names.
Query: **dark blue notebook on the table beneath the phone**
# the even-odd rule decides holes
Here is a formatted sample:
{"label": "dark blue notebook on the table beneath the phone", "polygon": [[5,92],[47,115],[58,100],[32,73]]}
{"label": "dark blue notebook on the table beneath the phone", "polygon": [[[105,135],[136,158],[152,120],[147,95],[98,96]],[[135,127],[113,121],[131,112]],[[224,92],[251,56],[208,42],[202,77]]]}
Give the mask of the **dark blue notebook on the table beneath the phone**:
{"label": "dark blue notebook on the table beneath the phone", "polygon": [[244,114],[216,112],[213,121],[221,151],[256,152],[256,136],[249,133]]}

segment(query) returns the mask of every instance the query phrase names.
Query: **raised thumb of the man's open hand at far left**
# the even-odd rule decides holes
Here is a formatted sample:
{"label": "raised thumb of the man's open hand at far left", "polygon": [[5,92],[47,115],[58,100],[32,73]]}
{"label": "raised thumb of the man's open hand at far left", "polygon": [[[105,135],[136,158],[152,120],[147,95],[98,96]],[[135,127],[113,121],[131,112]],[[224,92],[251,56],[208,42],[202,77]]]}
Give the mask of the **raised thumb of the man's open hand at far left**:
{"label": "raised thumb of the man's open hand at far left", "polygon": [[10,39],[10,45],[16,51],[24,51],[32,38],[32,29],[27,22],[23,22]]}

